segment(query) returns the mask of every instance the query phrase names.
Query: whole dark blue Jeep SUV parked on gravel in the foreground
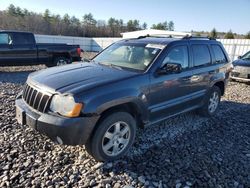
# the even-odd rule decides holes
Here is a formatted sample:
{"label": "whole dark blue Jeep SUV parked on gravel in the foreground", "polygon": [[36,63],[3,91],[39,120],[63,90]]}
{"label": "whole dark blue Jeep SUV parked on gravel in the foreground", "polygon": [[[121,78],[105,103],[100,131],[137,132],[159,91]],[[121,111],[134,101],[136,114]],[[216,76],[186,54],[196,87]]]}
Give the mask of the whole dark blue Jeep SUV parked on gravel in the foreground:
{"label": "whole dark blue Jeep SUV parked on gravel in the foreground", "polygon": [[195,109],[214,115],[230,66],[216,40],[122,40],[90,63],[30,74],[16,116],[60,144],[85,144],[98,161],[115,160],[138,127]]}

